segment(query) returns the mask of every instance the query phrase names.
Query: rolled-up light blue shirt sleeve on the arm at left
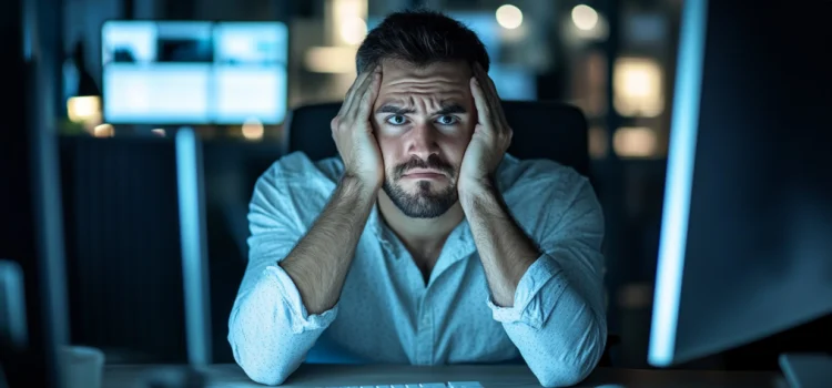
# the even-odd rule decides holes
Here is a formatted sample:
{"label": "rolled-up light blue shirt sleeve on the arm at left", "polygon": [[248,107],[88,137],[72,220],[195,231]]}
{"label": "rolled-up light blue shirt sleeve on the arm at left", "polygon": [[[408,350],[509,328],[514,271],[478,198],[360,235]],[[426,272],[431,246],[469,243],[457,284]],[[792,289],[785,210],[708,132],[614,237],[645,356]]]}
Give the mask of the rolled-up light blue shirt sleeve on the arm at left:
{"label": "rolled-up light blue shirt sleeve on the arm at left", "polygon": [[292,278],[277,264],[305,228],[277,171],[258,181],[250,205],[248,264],[229,318],[234,359],[257,382],[282,384],[337,315],[310,315]]}

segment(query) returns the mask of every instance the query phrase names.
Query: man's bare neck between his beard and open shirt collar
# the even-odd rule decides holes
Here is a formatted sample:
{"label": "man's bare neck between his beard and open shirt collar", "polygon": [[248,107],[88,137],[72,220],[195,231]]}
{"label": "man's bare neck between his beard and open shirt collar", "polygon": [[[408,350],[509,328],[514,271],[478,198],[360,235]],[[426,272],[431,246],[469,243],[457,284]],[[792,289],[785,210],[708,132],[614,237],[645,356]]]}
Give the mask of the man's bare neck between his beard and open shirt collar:
{"label": "man's bare neck between his beard and open shirt collar", "polygon": [[412,218],[402,213],[384,191],[378,194],[378,210],[387,226],[406,245],[425,246],[428,249],[444,244],[445,238],[465,217],[463,206],[457,202],[436,218]]}

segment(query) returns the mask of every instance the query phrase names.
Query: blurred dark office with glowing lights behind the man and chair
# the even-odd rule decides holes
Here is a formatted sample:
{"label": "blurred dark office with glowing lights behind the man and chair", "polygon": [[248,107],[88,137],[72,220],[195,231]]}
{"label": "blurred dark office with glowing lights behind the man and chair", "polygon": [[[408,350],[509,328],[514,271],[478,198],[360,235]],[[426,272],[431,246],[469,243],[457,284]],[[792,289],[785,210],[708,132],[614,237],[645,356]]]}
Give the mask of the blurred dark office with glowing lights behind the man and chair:
{"label": "blurred dark office with glowing lights behind the man and chair", "polygon": [[[185,360],[174,136],[187,125],[203,142],[214,360],[233,361],[247,202],[282,155],[287,115],[343,99],[367,30],[428,7],[479,33],[504,99],[584,111],[607,216],[613,363],[647,367],[681,2],[63,0],[54,104],[72,341],[112,363]],[[789,340],[818,333],[810,325]],[[737,351],[773,357],[780,340]],[[753,363],[723,354],[689,367],[775,367],[743,359]]]}

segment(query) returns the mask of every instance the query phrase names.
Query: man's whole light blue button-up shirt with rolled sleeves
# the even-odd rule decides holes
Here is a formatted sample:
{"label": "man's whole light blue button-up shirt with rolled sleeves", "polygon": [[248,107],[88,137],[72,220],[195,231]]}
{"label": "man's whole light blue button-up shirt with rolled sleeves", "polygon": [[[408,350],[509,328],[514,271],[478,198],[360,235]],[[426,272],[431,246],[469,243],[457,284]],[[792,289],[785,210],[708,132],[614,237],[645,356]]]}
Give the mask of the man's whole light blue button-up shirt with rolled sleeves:
{"label": "man's whole light blue button-up shirt with rolled sleeves", "polygon": [[[343,173],[338,159],[284,156],[257,181],[250,261],[229,321],[234,358],[253,380],[282,384],[301,363],[474,364],[525,360],[547,387],[574,385],[606,344],[603,216],[584,176],[551,161],[506,155],[497,187],[544,253],[511,307],[491,303],[467,221],[430,278],[374,206],[341,299],[306,312],[277,265],[312,227]],[[336,242],[333,242],[336,243]]]}

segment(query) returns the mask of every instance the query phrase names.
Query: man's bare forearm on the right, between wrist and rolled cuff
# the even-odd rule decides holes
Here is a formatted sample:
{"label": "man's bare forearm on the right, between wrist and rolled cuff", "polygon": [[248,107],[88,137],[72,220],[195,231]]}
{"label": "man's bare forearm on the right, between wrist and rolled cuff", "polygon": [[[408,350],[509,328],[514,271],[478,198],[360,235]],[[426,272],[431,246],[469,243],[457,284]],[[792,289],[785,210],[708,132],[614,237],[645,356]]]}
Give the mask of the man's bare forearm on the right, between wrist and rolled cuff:
{"label": "man's bare forearm on the right, between wrist and rolled cuff", "polygon": [[498,306],[514,305],[517,284],[540,256],[540,251],[517,225],[496,187],[473,186],[460,203],[483,262],[488,286]]}

